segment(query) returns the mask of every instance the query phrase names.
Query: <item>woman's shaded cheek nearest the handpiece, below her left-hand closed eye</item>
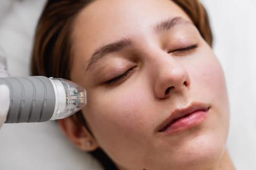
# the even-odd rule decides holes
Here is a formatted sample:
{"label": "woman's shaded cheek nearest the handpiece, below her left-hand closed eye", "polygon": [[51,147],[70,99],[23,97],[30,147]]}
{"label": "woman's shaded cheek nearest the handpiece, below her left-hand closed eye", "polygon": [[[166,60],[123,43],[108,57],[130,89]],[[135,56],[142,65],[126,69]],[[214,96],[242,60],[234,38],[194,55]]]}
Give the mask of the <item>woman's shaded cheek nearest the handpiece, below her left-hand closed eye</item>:
{"label": "woman's shaded cheek nearest the handpiece, below her left-hand closed eye", "polygon": [[96,90],[93,96],[89,96],[88,101],[93,102],[84,109],[84,113],[88,113],[85,117],[102,147],[125,145],[131,139],[138,141],[139,137],[146,135],[144,131],[138,131],[146,130],[143,126],[150,121],[146,114],[149,111],[146,103],[150,97],[145,89],[145,85],[138,82],[119,85],[107,92]]}

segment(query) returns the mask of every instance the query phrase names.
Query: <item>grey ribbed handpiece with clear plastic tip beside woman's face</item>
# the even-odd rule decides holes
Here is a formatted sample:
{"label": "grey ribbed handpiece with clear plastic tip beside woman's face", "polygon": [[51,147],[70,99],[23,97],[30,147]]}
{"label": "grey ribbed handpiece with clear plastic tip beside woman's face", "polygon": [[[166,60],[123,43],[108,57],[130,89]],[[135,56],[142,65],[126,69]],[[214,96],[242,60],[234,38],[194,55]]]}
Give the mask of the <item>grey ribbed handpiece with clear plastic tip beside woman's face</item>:
{"label": "grey ribbed handpiece with clear plastic tip beside woman's face", "polygon": [[66,118],[86,104],[79,85],[43,76],[0,78],[10,89],[10,108],[5,123],[43,122]]}

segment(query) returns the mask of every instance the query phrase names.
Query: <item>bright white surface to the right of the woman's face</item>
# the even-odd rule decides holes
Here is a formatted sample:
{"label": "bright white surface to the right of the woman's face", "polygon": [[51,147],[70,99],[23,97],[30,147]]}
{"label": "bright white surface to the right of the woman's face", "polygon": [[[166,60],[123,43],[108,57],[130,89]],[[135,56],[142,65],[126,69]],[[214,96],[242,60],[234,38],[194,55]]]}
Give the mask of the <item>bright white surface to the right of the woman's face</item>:
{"label": "bright white surface to the right of the woman's face", "polygon": [[226,74],[231,108],[228,149],[237,170],[256,170],[256,1],[201,1]]}

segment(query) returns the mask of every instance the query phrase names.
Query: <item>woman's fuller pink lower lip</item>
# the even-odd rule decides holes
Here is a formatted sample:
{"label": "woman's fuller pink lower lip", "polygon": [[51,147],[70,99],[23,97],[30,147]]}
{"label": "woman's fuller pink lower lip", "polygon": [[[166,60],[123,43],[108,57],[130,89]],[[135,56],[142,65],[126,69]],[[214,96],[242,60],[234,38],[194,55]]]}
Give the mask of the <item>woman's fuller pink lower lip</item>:
{"label": "woman's fuller pink lower lip", "polygon": [[161,131],[161,132],[167,135],[172,135],[172,134],[186,131],[194,126],[197,126],[202,121],[207,119],[208,112],[209,110],[207,111],[199,110],[194,113],[191,113],[187,117],[182,117],[180,119],[175,120],[164,131]]}

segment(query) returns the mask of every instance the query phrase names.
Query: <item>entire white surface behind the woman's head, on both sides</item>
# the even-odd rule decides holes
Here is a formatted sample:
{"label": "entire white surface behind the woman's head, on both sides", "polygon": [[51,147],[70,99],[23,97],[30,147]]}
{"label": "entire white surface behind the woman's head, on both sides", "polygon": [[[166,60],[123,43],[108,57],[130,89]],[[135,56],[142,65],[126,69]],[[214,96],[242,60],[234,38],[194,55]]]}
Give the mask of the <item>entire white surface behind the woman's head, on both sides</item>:
{"label": "entire white surface behind the woman's head, on both sides", "polygon": [[[227,80],[228,149],[237,170],[256,170],[256,1],[201,0],[214,31],[214,51]],[[0,45],[11,76],[29,75],[34,29],[45,0],[0,0]],[[4,124],[1,170],[100,170],[72,146],[55,122]]]}

